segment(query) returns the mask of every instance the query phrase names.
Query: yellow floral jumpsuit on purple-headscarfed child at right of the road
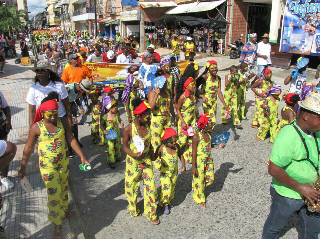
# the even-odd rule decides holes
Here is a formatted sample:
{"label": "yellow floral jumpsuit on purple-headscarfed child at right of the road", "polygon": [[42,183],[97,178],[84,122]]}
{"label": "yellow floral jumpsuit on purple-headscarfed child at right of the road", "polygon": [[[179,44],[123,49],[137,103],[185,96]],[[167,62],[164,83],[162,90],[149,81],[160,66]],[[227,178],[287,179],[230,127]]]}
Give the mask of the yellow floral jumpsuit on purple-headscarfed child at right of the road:
{"label": "yellow floral jumpsuit on purple-headscarfed child at right of the road", "polygon": [[277,97],[276,103],[271,101],[271,97],[266,98],[268,100],[268,107],[270,109],[270,116],[266,116],[263,112],[262,118],[260,119],[260,127],[258,137],[261,140],[264,140],[267,136],[267,133],[270,129],[270,142],[273,143],[276,137],[276,129],[278,126],[278,108],[280,98]]}

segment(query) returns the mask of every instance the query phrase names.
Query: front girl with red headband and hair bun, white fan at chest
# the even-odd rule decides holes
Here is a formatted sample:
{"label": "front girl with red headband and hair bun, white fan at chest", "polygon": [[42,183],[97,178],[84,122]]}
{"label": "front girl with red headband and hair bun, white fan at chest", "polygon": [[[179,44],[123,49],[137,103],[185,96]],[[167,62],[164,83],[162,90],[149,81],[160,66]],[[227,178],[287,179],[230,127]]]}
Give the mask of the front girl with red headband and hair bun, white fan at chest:
{"label": "front girl with red headband and hair bun, white fan at chest", "polygon": [[[141,213],[137,208],[137,196],[140,181],[143,180],[144,214],[153,224],[159,224],[160,221],[156,215],[158,194],[151,161],[151,156],[154,158],[154,155],[150,143],[150,105],[140,98],[135,98],[132,100],[132,106],[135,119],[123,131],[123,150],[127,154],[124,178],[125,197],[129,203],[130,216],[140,217]],[[139,152],[134,144],[133,137],[135,136],[139,136],[144,143],[142,152]]]}

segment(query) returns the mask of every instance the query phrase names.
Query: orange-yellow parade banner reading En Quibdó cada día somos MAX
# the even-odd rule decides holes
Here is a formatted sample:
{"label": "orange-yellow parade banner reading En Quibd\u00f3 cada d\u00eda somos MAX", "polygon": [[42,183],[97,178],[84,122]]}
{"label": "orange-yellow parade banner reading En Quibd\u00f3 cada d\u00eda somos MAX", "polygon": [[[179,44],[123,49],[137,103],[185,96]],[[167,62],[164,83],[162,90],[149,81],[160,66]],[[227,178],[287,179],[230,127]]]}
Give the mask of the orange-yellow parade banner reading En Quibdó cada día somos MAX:
{"label": "orange-yellow parade banner reading En Quibd\u00f3 cada d\u00eda somos MAX", "polygon": [[[159,66],[161,63],[156,63]],[[188,66],[188,61],[179,61],[181,74]],[[117,63],[100,63],[100,62],[85,62],[92,71],[93,87],[103,88],[104,85],[111,85],[112,88],[125,88],[125,79],[128,73],[132,73],[135,77],[138,75],[141,64],[117,64]]]}

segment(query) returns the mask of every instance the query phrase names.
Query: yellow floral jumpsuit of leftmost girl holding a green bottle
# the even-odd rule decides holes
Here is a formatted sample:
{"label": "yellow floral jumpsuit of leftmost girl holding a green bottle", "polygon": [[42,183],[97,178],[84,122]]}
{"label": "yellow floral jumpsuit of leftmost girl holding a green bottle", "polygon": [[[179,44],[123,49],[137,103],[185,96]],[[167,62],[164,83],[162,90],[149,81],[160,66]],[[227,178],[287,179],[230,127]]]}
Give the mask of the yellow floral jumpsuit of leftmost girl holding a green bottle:
{"label": "yellow floral jumpsuit of leftmost girl holding a green bottle", "polygon": [[38,126],[39,167],[47,189],[48,219],[60,225],[65,217],[64,210],[68,209],[69,157],[65,130],[60,119],[57,120],[57,132],[54,134],[47,131],[43,121]]}

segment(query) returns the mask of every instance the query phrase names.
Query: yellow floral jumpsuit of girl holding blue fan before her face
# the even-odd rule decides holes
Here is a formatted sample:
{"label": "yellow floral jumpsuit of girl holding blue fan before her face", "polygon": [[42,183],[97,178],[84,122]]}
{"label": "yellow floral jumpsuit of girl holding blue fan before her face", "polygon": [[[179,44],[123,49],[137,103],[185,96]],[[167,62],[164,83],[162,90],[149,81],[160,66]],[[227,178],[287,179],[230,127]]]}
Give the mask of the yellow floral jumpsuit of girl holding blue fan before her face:
{"label": "yellow floral jumpsuit of girl holding blue fan before her face", "polygon": [[[158,95],[156,106],[152,111],[151,117],[151,143],[154,149],[156,149],[161,144],[160,135],[165,128],[170,128],[171,118],[170,118],[170,102],[171,96],[165,91],[165,97]],[[160,170],[161,160],[159,158],[154,161],[155,169]]]}

